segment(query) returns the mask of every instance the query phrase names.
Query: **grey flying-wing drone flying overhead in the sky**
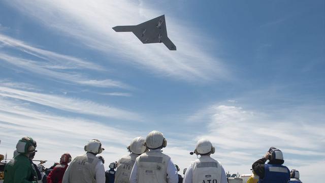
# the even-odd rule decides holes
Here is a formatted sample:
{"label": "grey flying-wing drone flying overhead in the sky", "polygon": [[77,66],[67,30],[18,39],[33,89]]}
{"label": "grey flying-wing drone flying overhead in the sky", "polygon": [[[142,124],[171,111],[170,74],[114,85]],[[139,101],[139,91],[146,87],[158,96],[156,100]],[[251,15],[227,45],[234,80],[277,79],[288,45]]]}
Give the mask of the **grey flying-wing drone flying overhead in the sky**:
{"label": "grey flying-wing drone flying overhead in the sky", "polygon": [[113,27],[116,32],[132,32],[143,43],[164,43],[168,49],[176,50],[176,46],[167,36],[165,15],[151,19],[139,25]]}

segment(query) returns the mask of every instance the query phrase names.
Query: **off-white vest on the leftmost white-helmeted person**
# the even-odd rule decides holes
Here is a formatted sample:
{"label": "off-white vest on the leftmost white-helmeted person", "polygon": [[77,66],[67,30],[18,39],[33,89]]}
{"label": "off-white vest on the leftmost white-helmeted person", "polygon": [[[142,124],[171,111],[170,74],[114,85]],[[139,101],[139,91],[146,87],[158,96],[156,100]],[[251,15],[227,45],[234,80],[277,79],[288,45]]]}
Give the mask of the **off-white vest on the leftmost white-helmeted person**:
{"label": "off-white vest on the leftmost white-helmeted person", "polygon": [[87,154],[76,157],[70,164],[69,182],[95,183],[95,167],[99,161],[98,157]]}

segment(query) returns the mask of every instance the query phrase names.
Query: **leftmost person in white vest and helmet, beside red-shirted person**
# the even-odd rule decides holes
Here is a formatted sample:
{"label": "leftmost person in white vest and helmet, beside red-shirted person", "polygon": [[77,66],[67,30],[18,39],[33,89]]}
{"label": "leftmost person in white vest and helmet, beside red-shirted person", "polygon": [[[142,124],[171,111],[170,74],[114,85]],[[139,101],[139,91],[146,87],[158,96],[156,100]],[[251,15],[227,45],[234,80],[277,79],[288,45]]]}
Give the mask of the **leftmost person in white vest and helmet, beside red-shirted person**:
{"label": "leftmost person in white vest and helmet, beside red-shirted person", "polygon": [[77,156],[63,175],[62,183],[105,183],[103,161],[96,155],[104,150],[101,141],[90,140],[85,145],[86,154]]}

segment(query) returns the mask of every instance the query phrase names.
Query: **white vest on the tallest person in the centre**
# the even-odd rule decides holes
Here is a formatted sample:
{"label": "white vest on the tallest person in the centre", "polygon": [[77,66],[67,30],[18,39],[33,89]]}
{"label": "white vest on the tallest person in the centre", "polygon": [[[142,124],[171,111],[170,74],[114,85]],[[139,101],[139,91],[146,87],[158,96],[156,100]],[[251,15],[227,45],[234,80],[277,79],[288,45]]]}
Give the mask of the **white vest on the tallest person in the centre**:
{"label": "white vest on the tallest person in the centre", "polygon": [[167,163],[170,159],[160,149],[140,155],[136,160],[138,183],[167,183]]}

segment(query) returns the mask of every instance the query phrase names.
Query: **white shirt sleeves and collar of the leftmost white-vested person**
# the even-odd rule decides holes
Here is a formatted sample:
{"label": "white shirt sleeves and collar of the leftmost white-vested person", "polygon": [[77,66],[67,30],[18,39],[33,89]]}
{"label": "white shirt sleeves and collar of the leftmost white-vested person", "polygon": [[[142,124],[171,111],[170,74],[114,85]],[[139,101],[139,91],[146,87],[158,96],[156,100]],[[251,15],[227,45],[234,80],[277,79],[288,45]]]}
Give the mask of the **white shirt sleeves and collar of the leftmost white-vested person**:
{"label": "white shirt sleeves and collar of the leftmost white-vested person", "polygon": [[[87,157],[90,158],[98,158],[95,155],[91,154],[91,153],[87,153]],[[63,175],[63,179],[62,179],[62,183],[70,183],[69,182],[69,175],[70,175],[70,168],[71,166],[68,166],[66,172],[64,172]],[[102,161],[99,161],[96,164],[95,167],[95,178],[96,178],[96,183],[105,183],[105,168],[104,168],[104,164]]]}

